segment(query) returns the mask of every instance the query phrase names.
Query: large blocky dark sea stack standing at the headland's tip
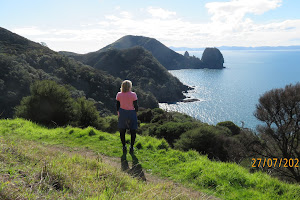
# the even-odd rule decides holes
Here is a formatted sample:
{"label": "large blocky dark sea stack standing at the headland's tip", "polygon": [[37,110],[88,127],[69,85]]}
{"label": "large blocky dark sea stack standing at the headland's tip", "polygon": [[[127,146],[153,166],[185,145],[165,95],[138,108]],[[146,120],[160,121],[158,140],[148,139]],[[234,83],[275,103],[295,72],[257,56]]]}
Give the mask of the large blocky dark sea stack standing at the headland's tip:
{"label": "large blocky dark sea stack standing at the headland's tip", "polygon": [[201,61],[207,68],[222,69],[224,68],[224,58],[217,48],[205,48]]}

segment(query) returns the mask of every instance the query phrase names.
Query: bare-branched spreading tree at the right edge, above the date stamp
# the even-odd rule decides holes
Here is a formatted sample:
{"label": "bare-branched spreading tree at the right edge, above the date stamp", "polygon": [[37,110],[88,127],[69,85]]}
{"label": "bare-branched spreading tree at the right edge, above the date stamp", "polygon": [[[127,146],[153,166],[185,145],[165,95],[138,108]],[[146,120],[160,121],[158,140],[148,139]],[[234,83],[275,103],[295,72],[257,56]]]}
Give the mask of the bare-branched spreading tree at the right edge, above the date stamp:
{"label": "bare-branched spreading tree at the right edge, above the date stamp", "polygon": [[[264,141],[261,155],[271,159],[300,158],[300,83],[266,92],[254,115],[265,124],[258,128]],[[295,166],[274,170],[300,182],[300,171]]]}

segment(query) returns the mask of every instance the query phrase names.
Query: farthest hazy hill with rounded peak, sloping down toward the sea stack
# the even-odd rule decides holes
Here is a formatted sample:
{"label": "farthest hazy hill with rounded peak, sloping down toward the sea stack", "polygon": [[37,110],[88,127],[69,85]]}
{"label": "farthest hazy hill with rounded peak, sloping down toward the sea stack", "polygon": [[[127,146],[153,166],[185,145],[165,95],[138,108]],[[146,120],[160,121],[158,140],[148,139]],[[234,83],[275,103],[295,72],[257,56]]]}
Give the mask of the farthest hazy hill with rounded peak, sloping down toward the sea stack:
{"label": "farthest hazy hill with rounded peak, sloping down toward the sea stack", "polygon": [[209,63],[204,63],[199,58],[189,56],[185,57],[170,48],[166,47],[164,44],[159,42],[154,38],[143,37],[143,36],[132,36],[127,35],[116,42],[100,49],[96,52],[91,52],[88,54],[72,54],[70,52],[62,52],[68,54],[78,60],[88,62],[91,58],[97,57],[97,54],[110,49],[128,49],[135,46],[141,46],[152,53],[152,55],[168,70],[171,69],[201,69],[201,68],[223,68],[224,60],[218,60],[221,62],[221,67],[210,65]]}

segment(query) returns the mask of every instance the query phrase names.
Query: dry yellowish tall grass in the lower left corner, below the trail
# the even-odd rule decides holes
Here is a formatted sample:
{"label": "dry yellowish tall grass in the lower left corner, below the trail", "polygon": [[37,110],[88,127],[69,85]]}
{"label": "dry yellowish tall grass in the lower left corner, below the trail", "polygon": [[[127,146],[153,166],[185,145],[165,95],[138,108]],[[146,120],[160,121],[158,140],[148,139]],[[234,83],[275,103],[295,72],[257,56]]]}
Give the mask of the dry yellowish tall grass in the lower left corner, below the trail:
{"label": "dry yellowish tall grass in the lower left corner, below the trail", "polygon": [[132,178],[99,154],[7,137],[0,142],[0,199],[190,199],[174,184]]}

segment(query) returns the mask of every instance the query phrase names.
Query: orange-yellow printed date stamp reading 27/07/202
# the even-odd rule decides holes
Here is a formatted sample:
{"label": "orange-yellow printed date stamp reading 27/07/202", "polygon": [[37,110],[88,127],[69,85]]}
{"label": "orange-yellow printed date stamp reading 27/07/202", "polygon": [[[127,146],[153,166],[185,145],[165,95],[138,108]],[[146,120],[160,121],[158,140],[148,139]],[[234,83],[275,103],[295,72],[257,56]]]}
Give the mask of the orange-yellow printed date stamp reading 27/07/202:
{"label": "orange-yellow printed date stamp reading 27/07/202", "polygon": [[299,167],[298,158],[252,158],[252,167]]}

